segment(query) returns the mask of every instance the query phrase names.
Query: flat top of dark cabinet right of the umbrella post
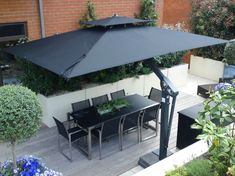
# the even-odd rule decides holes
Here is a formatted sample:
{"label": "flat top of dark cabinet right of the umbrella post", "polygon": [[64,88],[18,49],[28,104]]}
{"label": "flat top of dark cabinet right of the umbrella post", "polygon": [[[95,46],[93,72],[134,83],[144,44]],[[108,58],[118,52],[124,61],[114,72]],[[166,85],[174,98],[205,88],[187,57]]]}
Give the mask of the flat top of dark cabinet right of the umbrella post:
{"label": "flat top of dark cabinet right of the umbrella post", "polygon": [[192,119],[196,119],[199,117],[199,112],[203,110],[203,103],[196,104],[194,106],[191,106],[189,108],[183,109],[179,111],[179,114],[183,114],[187,117],[190,117]]}

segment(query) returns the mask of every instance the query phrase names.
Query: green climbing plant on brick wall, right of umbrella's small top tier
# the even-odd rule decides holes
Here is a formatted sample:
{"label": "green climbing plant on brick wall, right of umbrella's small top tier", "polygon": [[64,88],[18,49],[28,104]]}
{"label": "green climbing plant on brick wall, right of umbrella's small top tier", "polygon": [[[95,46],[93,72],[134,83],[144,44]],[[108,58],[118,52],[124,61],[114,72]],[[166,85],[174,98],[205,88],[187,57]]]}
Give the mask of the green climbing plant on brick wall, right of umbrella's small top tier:
{"label": "green climbing plant on brick wall, right of umbrella's small top tier", "polygon": [[158,20],[158,13],[154,0],[141,0],[140,14],[135,15],[137,18],[144,20],[153,20],[149,26],[156,26]]}

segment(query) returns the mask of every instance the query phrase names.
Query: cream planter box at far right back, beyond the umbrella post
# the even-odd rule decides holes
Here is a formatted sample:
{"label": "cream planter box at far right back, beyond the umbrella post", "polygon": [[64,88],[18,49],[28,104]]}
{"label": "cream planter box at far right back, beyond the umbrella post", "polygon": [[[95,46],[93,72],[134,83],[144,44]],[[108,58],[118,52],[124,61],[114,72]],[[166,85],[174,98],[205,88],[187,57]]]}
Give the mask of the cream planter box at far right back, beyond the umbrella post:
{"label": "cream planter box at far right back, beyond the umbrella post", "polygon": [[219,78],[223,77],[224,63],[192,55],[190,73],[202,78],[219,81]]}

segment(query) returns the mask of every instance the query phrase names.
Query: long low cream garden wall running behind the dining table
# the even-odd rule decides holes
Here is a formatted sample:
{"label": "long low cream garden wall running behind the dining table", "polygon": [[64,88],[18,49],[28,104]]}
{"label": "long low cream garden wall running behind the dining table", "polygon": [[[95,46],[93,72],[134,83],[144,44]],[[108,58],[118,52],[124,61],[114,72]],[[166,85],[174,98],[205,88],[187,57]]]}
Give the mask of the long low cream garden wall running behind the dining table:
{"label": "long low cream garden wall running behind the dining table", "polygon": [[[187,82],[187,64],[163,69],[162,72],[174,83],[176,87],[181,87]],[[137,93],[144,96],[149,94],[151,87],[160,89],[160,81],[154,73],[123,79],[111,84],[86,85],[82,90],[68,92],[61,95],[46,97],[38,94],[38,98],[43,109],[42,122],[48,127],[55,126],[52,119],[53,116],[61,121],[65,121],[66,113],[71,112],[72,110],[71,103],[77,101],[90,99],[103,94],[110,94],[111,92],[121,89],[125,89],[127,95]]]}

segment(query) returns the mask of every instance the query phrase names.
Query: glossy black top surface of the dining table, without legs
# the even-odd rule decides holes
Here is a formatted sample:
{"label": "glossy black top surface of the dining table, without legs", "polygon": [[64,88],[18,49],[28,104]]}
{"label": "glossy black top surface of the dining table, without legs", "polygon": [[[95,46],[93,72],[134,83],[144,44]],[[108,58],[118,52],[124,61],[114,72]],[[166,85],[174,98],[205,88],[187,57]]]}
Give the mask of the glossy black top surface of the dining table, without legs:
{"label": "glossy black top surface of the dining table, without legs", "polygon": [[144,110],[153,106],[159,106],[159,102],[152,101],[138,94],[124,97],[129,103],[128,107],[121,108],[118,111],[104,115],[99,115],[95,107],[84,109],[83,111],[73,112],[71,116],[77,123],[84,128],[93,128],[109,120],[120,118],[122,116]]}

